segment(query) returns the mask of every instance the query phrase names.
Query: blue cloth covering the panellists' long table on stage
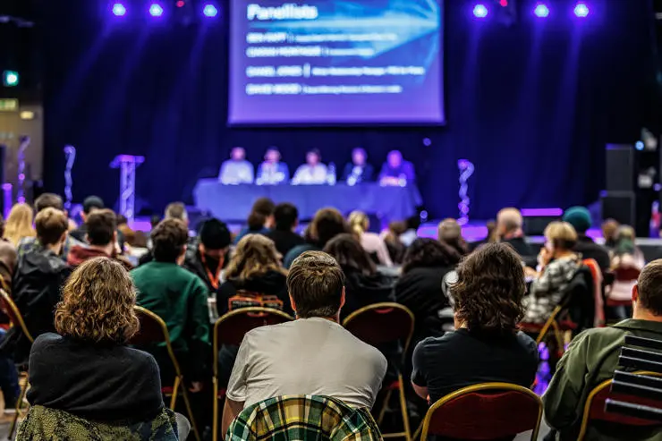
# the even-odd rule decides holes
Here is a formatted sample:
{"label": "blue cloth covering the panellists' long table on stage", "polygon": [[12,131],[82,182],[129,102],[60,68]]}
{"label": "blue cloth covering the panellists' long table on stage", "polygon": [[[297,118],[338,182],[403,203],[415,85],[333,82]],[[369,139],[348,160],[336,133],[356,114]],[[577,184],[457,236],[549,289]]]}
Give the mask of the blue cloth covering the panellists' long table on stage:
{"label": "blue cloth covering the panellists' long table on stage", "polygon": [[201,179],[193,190],[198,208],[227,221],[244,221],[255,199],[291,202],[301,219],[310,219],[319,208],[334,207],[347,215],[361,210],[384,221],[403,220],[416,214],[421,205],[415,186],[381,187],[377,183],[336,185],[223,185],[216,179]]}

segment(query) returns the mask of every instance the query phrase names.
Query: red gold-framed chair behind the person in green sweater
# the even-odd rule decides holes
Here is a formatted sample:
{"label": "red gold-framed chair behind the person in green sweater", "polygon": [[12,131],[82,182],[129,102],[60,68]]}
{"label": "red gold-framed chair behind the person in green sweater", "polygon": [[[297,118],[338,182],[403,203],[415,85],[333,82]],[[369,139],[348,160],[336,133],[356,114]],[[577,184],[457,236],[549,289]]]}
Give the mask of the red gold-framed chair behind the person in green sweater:
{"label": "red gold-framed chair behind the person in green sweater", "polygon": [[189,414],[189,420],[191,421],[191,427],[193,428],[193,434],[195,435],[195,439],[199,441],[200,437],[198,427],[195,423],[195,418],[193,417],[189,394],[187,393],[186,386],[183,382],[182,369],[180,369],[177,357],[174,355],[173,345],[170,343],[170,333],[168,333],[168,327],[165,325],[165,321],[158,317],[154,312],[142,308],[141,306],[135,306],[134,309],[138,319],[140,320],[140,331],[138,334],[132,337],[129,343],[139,347],[165,343],[165,349],[167,350],[168,356],[173,363],[175,377],[173,386],[162,386],[161,393],[165,396],[170,396],[169,407],[170,410],[174,411],[174,406],[177,403],[177,398],[179,397],[179,393],[181,391],[182,398],[186,406],[186,411]]}

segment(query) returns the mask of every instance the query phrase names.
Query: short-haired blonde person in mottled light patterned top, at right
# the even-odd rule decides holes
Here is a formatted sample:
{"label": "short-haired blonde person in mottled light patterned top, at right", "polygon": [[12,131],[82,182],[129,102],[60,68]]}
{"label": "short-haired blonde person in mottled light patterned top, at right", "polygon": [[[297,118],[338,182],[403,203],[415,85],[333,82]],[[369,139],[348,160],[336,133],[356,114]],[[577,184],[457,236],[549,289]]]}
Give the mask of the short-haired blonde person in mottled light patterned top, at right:
{"label": "short-haired blonde person in mottled light patterned top, at right", "polygon": [[545,245],[538,256],[542,271],[527,268],[533,281],[524,299],[526,323],[545,323],[563,299],[565,287],[581,266],[580,257],[573,251],[576,242],[577,233],[567,222],[552,222],[545,228]]}

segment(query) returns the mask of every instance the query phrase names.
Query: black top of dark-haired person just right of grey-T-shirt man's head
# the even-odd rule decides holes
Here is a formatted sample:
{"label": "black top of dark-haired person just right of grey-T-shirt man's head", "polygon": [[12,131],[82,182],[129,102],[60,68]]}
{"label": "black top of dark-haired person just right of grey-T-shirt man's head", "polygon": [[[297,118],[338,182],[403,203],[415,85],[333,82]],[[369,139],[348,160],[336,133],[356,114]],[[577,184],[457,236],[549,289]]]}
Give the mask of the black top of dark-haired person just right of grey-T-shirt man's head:
{"label": "black top of dark-haired person just right of grey-T-shirt man's head", "polygon": [[393,286],[395,278],[377,273],[366,276],[359,271],[343,268],[344,307],[340,310],[341,322],[355,310],[382,301],[395,301]]}

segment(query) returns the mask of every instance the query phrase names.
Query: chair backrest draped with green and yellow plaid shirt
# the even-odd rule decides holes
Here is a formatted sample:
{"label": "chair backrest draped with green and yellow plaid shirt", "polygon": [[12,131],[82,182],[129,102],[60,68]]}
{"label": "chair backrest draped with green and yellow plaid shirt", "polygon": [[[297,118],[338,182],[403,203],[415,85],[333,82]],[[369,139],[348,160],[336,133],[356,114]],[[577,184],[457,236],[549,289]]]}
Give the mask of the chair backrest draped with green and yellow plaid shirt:
{"label": "chair backrest draped with green and yellow plaid shirt", "polygon": [[286,395],[244,409],[233,420],[226,441],[381,440],[369,409],[352,409],[330,396]]}

